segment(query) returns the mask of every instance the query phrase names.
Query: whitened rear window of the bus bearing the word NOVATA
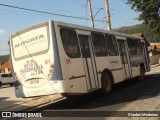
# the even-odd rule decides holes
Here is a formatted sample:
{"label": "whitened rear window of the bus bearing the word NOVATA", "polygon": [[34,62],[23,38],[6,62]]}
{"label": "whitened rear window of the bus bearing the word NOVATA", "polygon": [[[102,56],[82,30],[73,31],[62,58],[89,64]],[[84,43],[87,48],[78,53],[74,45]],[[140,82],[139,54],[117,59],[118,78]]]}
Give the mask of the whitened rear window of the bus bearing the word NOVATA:
{"label": "whitened rear window of the bus bearing the word NOVATA", "polygon": [[42,54],[49,49],[48,26],[30,28],[11,37],[15,60]]}

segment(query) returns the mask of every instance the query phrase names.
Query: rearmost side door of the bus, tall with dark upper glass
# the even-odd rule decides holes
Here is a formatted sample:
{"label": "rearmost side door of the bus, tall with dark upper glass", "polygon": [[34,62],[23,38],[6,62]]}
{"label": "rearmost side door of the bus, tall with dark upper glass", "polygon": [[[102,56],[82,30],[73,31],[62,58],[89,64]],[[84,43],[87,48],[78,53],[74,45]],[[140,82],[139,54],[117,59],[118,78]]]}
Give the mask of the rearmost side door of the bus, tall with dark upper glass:
{"label": "rearmost side door of the bus, tall with dark upper glass", "polygon": [[86,74],[86,82],[87,82],[87,89],[88,91],[94,90],[97,88],[97,72],[96,72],[96,64],[93,54],[93,49],[90,41],[89,35],[78,35],[81,52],[82,52],[82,58],[83,58],[83,64],[84,64],[84,70]]}

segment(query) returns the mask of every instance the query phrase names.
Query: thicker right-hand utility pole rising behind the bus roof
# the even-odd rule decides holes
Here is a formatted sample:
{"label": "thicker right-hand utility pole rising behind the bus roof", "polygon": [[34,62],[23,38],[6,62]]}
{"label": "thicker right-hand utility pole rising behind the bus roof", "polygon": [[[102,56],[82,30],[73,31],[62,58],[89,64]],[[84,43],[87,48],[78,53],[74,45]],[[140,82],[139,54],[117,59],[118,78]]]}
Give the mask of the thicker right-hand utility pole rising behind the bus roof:
{"label": "thicker right-hand utility pole rising behind the bus roof", "polygon": [[109,12],[109,4],[108,0],[105,0],[105,5],[106,5],[106,21],[107,21],[107,27],[108,31],[111,31],[111,20],[110,20],[110,12]]}

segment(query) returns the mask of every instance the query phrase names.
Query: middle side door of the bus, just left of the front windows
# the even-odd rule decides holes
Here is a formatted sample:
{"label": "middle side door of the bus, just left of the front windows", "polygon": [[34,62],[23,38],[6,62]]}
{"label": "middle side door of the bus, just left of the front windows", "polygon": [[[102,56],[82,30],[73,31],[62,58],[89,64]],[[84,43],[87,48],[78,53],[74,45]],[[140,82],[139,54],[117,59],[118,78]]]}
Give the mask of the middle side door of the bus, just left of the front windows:
{"label": "middle side door of the bus, just left of the front windows", "polygon": [[127,44],[125,40],[118,39],[120,57],[122,61],[122,68],[124,73],[124,79],[131,77],[131,67],[129,61],[129,54],[127,50]]}

